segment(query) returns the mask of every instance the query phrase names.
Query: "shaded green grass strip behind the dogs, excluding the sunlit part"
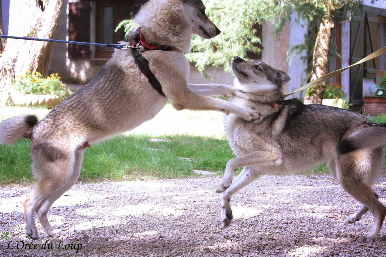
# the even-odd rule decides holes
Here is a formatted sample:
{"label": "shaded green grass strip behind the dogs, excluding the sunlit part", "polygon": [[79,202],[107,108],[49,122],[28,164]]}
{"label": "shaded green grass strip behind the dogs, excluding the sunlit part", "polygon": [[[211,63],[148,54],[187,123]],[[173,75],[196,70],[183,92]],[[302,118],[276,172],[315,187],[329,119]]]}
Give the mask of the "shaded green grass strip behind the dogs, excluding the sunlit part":
{"label": "shaded green grass strip behind the dogs, excluding the sunlit part", "polygon": [[[92,145],[85,152],[80,178],[94,181],[147,176],[180,178],[193,175],[193,169],[223,171],[227,161],[234,157],[226,140],[173,135],[157,137],[170,142],[149,142],[151,138],[147,135],[122,135]],[[29,149],[30,142],[24,139],[11,147],[0,146],[0,183],[33,180]]]}

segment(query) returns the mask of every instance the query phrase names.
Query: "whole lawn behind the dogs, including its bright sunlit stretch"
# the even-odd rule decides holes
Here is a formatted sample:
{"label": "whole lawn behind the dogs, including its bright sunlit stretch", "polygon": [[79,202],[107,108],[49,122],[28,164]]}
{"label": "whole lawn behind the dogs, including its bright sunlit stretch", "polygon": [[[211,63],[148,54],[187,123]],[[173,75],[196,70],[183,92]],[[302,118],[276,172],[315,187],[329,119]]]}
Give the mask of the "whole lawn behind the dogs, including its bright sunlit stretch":
{"label": "whole lawn behind the dogs, including its bright sunlit stretch", "polygon": [[[44,117],[45,108],[0,107],[0,120],[22,113]],[[386,122],[386,115],[374,122]],[[151,142],[150,139],[163,139]],[[0,184],[33,181],[30,141],[0,145]],[[223,173],[234,157],[225,137],[222,113],[177,112],[171,105],[140,127],[91,145],[86,150],[80,178],[85,181],[122,180],[147,177],[178,178],[193,175],[194,169]],[[325,164],[306,173],[328,172]]]}

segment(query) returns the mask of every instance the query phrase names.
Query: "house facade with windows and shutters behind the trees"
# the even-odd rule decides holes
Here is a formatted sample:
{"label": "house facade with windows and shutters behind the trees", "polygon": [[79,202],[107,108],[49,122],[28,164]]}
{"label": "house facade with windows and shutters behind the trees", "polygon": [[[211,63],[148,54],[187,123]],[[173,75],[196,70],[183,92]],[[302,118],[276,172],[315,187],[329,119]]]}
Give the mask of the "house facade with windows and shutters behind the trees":
{"label": "house facade with windows and shutters behind the trees", "polygon": [[[65,0],[60,12],[58,29],[55,38],[61,40],[111,43],[124,37],[123,30],[114,32],[123,19],[135,15],[147,0]],[[7,0],[2,1],[3,26],[7,32]],[[368,2],[368,3],[367,3]],[[329,71],[334,71],[355,63],[367,54],[386,45],[386,2],[367,1],[362,10],[351,15],[350,20],[337,21],[330,46]],[[306,81],[306,63],[301,60],[306,53],[288,55],[293,46],[305,41],[308,24],[292,14],[280,37],[273,35],[273,25],[257,25],[257,33],[262,39],[261,54],[249,52],[249,57],[263,61],[274,68],[281,69],[290,77],[287,92],[296,90]],[[112,50],[101,47],[55,44],[49,66],[50,73],[59,73],[65,83],[79,87],[94,78]],[[288,57],[289,56],[289,57]],[[348,100],[359,110],[363,97],[371,95],[377,81],[386,72],[386,56],[366,64],[351,68],[334,78],[334,81],[345,86]],[[207,67],[207,73],[213,78],[207,81],[191,65],[189,81],[191,83],[224,83],[232,84],[232,74],[225,73],[222,67]],[[305,92],[292,97],[303,98]]]}

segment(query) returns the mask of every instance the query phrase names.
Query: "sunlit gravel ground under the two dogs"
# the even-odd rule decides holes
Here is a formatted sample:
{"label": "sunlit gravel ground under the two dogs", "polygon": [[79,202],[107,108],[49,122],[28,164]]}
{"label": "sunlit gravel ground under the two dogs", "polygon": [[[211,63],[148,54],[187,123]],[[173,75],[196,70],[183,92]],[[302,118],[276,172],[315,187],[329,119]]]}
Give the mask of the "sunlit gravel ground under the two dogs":
{"label": "sunlit gravel ground under the two dogs", "polygon": [[[76,184],[49,212],[51,225],[67,235],[47,238],[37,222],[35,250],[16,249],[17,242],[19,248],[32,242],[22,210],[32,188],[3,187],[0,233],[10,238],[0,235],[0,256],[386,256],[385,226],[375,243],[355,242],[371,228],[369,213],[355,227],[342,225],[359,203],[327,175],[259,178],[235,194],[226,229],[220,228],[218,181]],[[385,204],[386,173],[375,189]],[[45,242],[52,249],[42,250]]]}

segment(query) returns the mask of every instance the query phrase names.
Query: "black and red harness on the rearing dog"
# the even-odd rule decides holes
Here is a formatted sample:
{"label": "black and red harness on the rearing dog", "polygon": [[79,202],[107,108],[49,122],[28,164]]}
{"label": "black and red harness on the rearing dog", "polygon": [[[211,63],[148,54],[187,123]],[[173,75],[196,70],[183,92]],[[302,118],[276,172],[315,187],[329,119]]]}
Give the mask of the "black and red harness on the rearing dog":
{"label": "black and red harness on the rearing dog", "polygon": [[154,74],[150,71],[149,62],[145,59],[145,57],[142,55],[141,52],[149,51],[149,50],[173,51],[174,47],[147,44],[144,36],[142,36],[141,33],[139,32],[139,29],[140,28],[135,30],[135,34],[130,40],[130,46],[134,46],[134,47],[142,46],[144,50],[141,51],[139,50],[139,48],[130,48],[131,53],[133,54],[135,63],[137,63],[137,66],[140,69],[140,71],[147,77],[147,79],[149,79],[149,83],[151,84],[151,86],[155,90],[157,90],[158,93],[160,93],[162,96],[165,96],[164,92],[162,91],[161,84],[154,76]]}

